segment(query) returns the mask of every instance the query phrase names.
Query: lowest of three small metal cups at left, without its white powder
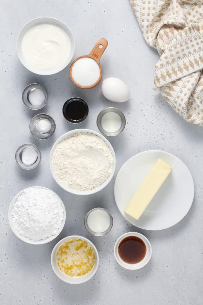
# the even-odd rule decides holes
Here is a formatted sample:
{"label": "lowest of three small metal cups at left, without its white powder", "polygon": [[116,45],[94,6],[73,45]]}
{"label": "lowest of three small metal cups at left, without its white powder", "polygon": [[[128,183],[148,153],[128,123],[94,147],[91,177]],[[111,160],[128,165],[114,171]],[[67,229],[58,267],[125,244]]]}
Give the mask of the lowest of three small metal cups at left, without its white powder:
{"label": "lowest of three small metal cups at left, without its white powder", "polygon": [[[25,149],[29,146],[33,147],[37,151],[37,160],[33,164],[26,165],[23,163],[23,161],[21,159],[21,154],[22,154],[23,149]],[[32,170],[35,167],[37,167],[37,165],[40,163],[42,156],[41,156],[41,152],[40,152],[39,148],[36,145],[34,145],[32,143],[26,143],[26,144],[20,145],[18,147],[18,149],[16,150],[15,158],[16,158],[16,163],[18,164],[19,167],[23,168],[24,170]]]}

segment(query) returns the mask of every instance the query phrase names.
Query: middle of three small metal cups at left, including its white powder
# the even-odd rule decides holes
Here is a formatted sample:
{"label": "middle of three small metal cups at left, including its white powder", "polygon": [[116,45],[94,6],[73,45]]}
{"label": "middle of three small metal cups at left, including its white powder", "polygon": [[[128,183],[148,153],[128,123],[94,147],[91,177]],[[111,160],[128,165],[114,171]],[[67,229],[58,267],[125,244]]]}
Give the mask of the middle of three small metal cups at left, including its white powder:
{"label": "middle of three small metal cups at left, including its white powder", "polygon": [[46,113],[39,113],[30,121],[30,132],[39,140],[46,140],[51,137],[55,129],[54,119]]}

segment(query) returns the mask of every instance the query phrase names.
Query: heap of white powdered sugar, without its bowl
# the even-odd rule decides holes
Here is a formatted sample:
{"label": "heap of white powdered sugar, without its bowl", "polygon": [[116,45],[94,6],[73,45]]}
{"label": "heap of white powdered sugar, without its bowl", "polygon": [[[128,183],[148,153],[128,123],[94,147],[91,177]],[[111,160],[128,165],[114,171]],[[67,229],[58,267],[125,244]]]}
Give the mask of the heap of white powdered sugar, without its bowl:
{"label": "heap of white powdered sugar, without its bowl", "polygon": [[56,235],[63,217],[60,199],[53,191],[44,188],[25,189],[12,210],[16,230],[33,241]]}

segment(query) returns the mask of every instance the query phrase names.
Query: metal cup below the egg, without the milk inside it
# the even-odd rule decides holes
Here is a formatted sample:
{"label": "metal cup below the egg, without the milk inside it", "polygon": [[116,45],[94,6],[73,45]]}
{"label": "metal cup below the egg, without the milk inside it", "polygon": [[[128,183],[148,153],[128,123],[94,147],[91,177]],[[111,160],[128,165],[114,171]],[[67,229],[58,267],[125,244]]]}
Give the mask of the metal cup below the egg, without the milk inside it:
{"label": "metal cup below the egg, without the milk inside it", "polygon": [[[114,131],[114,132],[108,132],[106,131],[105,129],[103,129],[102,125],[101,125],[101,119],[103,117],[103,115],[107,112],[115,112],[117,114],[120,115],[121,117],[121,127],[117,130],[117,131]],[[113,137],[113,136],[116,136],[116,135],[119,135],[125,128],[125,124],[126,124],[126,119],[125,119],[125,116],[124,114],[122,113],[121,110],[119,110],[118,108],[115,108],[115,107],[107,107],[107,108],[104,108],[102,111],[100,111],[100,113],[98,114],[97,116],[97,119],[96,119],[96,125],[98,127],[98,129],[104,134],[104,135],[107,135],[109,137]]]}

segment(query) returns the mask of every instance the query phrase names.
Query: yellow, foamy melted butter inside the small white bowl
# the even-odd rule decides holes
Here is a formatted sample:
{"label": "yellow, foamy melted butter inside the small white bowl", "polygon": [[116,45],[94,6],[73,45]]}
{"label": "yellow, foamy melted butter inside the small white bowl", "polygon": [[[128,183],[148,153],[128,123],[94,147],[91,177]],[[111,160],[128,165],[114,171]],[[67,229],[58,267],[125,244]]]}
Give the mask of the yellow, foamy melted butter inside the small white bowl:
{"label": "yellow, foamy melted butter inside the small white bowl", "polygon": [[88,242],[79,238],[65,240],[56,253],[58,267],[71,277],[85,275],[94,266],[95,252]]}

